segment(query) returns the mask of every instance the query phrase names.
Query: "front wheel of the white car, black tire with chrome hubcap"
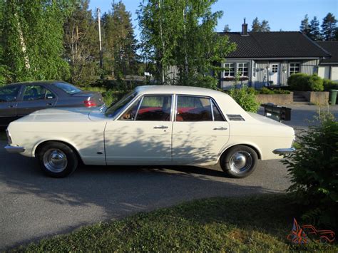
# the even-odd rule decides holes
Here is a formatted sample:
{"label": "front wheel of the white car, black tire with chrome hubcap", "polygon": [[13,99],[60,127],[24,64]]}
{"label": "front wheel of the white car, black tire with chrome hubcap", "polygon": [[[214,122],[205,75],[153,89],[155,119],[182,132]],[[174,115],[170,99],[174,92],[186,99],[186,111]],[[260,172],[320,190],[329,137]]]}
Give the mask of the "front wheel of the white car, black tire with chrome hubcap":
{"label": "front wheel of the white car, black tire with chrome hubcap", "polygon": [[50,177],[67,177],[78,167],[78,155],[68,145],[48,142],[39,148],[36,158],[41,170]]}

